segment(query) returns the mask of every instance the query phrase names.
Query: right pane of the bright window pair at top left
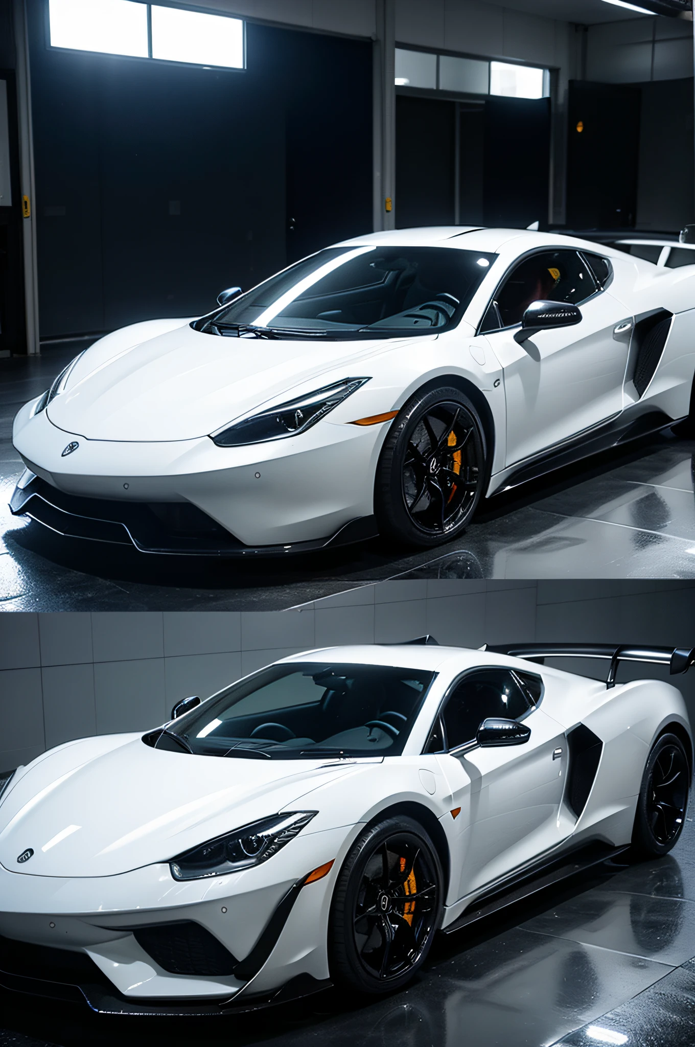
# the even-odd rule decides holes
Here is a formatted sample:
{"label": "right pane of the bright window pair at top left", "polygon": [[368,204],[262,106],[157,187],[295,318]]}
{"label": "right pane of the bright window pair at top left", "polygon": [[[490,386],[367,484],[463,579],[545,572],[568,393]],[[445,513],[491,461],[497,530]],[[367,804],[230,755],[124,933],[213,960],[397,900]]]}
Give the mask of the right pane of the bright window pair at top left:
{"label": "right pane of the bright window pair at top left", "polygon": [[152,5],[152,57],[244,68],[244,23],[238,18]]}

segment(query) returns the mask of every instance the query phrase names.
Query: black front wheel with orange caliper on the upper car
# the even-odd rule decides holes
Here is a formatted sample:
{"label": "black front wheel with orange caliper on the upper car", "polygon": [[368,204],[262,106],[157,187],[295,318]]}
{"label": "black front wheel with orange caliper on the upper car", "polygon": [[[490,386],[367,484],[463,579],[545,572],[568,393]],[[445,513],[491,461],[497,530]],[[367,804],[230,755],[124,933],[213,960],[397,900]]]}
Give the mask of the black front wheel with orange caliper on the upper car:
{"label": "black front wheel with orange caliper on the upper car", "polygon": [[424,548],[455,538],[475,512],[487,473],[485,430],[468,397],[446,385],[416,393],[379,456],[379,532]]}

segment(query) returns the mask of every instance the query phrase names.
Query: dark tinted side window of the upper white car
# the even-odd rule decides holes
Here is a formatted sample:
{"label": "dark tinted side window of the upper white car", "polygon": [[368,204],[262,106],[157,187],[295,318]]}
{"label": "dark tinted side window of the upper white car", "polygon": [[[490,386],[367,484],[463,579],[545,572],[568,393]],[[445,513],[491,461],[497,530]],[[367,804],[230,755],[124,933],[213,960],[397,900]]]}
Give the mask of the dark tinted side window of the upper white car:
{"label": "dark tinted side window of the upper white car", "polygon": [[532,302],[569,302],[576,306],[598,290],[577,251],[547,251],[524,259],[495,296],[505,327],[520,324]]}

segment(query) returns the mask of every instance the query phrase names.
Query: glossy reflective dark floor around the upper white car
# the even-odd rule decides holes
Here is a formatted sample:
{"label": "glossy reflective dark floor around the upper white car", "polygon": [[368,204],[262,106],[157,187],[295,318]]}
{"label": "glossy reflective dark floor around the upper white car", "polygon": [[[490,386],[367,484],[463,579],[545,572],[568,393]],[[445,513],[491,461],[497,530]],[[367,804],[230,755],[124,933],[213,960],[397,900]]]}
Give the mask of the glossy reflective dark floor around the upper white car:
{"label": "glossy reflective dark floor around the upper white car", "polygon": [[0,360],[0,607],[273,609],[387,578],[695,578],[695,442],[670,430],[485,503],[454,542],[374,539],[311,557],[160,559],[52,535],[7,509],[21,472],[12,419],[82,344]]}

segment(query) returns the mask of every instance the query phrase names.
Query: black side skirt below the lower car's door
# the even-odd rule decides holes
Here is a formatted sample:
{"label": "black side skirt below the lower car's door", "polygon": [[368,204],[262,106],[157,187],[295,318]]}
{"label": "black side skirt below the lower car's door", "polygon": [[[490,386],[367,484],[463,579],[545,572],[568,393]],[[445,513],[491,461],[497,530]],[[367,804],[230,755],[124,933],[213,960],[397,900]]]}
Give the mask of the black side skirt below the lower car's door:
{"label": "black side skirt below the lower car's door", "polygon": [[546,857],[523,872],[513,874],[502,886],[494,888],[490,893],[477,897],[464,910],[458,919],[443,929],[444,934],[452,934],[517,901],[523,901],[546,887],[616,857],[627,849],[627,846],[611,847],[609,844],[593,843],[560,857],[557,855],[553,859]]}

